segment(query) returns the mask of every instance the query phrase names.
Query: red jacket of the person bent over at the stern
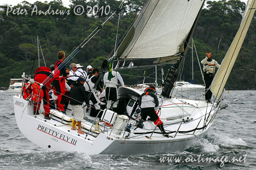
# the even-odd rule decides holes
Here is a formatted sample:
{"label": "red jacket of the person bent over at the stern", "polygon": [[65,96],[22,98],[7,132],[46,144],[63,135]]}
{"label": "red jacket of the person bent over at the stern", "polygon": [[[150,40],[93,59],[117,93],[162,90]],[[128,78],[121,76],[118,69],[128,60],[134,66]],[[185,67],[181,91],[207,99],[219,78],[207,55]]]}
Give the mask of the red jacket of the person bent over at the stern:
{"label": "red jacket of the person bent over at the stern", "polygon": [[53,81],[53,74],[52,74],[50,68],[45,67],[45,66],[37,68],[35,71],[34,80],[35,80],[35,82],[37,82],[39,84],[44,83],[44,85],[48,89],[51,88],[51,82]]}

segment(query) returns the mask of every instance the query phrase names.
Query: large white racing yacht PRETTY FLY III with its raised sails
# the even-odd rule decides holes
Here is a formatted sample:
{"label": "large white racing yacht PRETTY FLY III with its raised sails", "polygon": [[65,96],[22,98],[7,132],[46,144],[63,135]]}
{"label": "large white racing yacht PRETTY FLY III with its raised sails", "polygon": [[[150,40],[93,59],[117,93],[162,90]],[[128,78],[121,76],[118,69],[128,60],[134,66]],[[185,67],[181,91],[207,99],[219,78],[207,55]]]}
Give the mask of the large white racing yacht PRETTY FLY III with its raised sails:
{"label": "large white racing yacht PRETTY FLY III with its raised sails", "polygon": [[[130,87],[119,88],[122,102],[118,105],[124,109],[123,115],[104,109],[100,111],[100,119],[87,117],[82,121],[85,134],[71,130],[72,115],[51,110],[51,120],[45,120],[44,114],[33,114],[34,103],[29,98],[25,100],[22,95],[15,95],[14,112],[19,130],[48,151],[119,155],[183,151],[192,140],[207,134],[217,113],[226,107],[222,105],[224,86],[249,28],[255,1],[248,1],[238,33],[212,82],[210,90],[216,96],[212,104],[173,95],[179,63],[186,54],[205,1],[148,1],[113,57],[109,58],[108,61],[114,58],[115,69],[173,64],[164,80],[162,93],[158,94],[161,109],[157,112],[169,137],[163,136],[150,119],[140,121],[138,102],[142,91]],[[83,41],[67,61],[86,43]],[[40,112],[44,112],[42,107]]]}

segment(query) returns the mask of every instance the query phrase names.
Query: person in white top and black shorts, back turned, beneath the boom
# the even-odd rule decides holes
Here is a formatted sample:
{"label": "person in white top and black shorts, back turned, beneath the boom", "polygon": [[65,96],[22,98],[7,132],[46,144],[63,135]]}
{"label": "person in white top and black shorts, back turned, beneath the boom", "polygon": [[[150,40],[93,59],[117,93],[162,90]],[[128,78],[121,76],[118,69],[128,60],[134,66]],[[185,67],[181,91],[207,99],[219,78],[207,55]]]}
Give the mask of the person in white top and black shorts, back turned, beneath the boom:
{"label": "person in white top and black shorts, back turned, beneath the boom", "polygon": [[[104,85],[106,86],[106,108],[110,109],[112,102],[117,100],[117,85],[118,80],[122,86],[124,86],[123,79],[118,71],[112,71],[112,75],[114,76],[111,80],[108,80],[109,72],[106,72],[103,78]],[[113,104],[113,109],[117,107],[117,102]]]}

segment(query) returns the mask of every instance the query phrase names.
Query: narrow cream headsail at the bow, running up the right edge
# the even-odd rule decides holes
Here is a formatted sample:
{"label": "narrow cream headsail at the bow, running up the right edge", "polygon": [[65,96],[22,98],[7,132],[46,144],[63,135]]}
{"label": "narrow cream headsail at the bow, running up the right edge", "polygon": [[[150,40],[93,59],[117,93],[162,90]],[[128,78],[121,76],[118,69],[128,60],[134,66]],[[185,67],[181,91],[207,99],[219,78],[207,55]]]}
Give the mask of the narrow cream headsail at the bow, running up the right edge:
{"label": "narrow cream headsail at the bow, running up the right edge", "polygon": [[256,8],[256,0],[249,0],[248,7],[246,7],[246,11],[244,17],[242,19],[241,26],[237,32],[237,35],[234,37],[225,58],[222,60],[221,66],[215,75],[214,80],[211,83],[210,90],[219,100],[222,90],[227,82],[230,71],[234,65],[234,62],[237,59],[240,48],[243,44],[244,38],[248,31],[248,28],[251,23],[251,19],[254,15]]}

